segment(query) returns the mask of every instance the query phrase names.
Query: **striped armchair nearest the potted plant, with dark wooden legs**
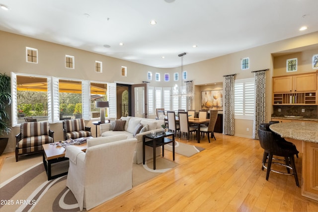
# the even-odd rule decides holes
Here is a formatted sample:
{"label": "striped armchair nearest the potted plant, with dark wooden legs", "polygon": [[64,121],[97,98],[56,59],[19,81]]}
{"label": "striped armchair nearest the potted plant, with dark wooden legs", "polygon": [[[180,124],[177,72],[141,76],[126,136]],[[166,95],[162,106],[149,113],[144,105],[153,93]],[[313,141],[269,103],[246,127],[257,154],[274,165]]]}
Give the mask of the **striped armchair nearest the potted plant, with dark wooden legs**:
{"label": "striped armchair nearest the potted plant, with dark wooden legs", "polygon": [[53,134],[48,121],[21,123],[20,133],[15,136],[16,162],[19,155],[42,152],[42,144],[54,141]]}

